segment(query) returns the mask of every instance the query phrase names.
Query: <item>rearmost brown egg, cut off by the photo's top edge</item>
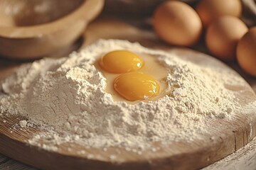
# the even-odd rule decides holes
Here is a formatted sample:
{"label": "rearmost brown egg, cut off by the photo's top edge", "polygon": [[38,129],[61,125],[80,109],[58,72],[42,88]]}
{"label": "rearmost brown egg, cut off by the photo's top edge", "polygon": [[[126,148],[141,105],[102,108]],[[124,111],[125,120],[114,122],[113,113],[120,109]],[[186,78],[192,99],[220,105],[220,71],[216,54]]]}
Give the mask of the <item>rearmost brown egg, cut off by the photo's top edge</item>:
{"label": "rearmost brown egg, cut off by the photo's top edge", "polygon": [[211,22],[220,16],[237,16],[242,13],[240,0],[201,0],[196,6],[196,11],[207,27]]}

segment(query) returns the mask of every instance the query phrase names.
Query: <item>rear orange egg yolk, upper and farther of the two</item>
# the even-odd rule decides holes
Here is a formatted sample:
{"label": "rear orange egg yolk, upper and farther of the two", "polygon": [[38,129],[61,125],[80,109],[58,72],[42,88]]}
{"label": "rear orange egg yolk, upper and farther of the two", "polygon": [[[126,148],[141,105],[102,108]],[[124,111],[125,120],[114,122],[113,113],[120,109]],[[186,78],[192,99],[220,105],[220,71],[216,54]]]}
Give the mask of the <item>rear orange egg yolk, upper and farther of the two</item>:
{"label": "rear orange egg yolk, upper and farther of the two", "polygon": [[104,55],[100,60],[100,66],[107,72],[120,74],[140,69],[143,61],[133,52],[117,50]]}

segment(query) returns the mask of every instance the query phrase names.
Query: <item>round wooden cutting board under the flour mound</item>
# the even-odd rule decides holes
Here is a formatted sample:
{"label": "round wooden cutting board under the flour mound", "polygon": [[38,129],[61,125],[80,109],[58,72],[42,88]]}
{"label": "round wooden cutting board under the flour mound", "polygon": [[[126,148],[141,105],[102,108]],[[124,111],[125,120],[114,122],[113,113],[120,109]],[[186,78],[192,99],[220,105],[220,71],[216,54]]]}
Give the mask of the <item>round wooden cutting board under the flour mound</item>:
{"label": "round wooden cutting board under the flour mound", "polygon": [[[198,64],[208,62],[218,64],[223,69],[230,69],[201,52],[166,46],[150,31],[142,32],[119,21],[100,20],[92,23],[83,37],[84,42],[81,47],[95,42],[98,38],[118,38],[132,42],[138,41],[146,47],[176,52],[181,57],[186,57],[187,60]],[[6,77],[14,72],[16,65],[18,64],[10,66],[5,64],[5,68],[0,69],[0,77]],[[235,76],[240,77],[238,74]],[[256,100],[255,93],[246,81],[230,89],[238,91],[242,106]],[[28,144],[27,141],[39,132],[36,127],[14,130],[13,125],[24,118],[3,115],[0,117],[0,152],[40,169],[198,169],[212,164],[250,142],[256,135],[255,112],[256,108],[252,108],[235,113],[232,120],[220,119],[210,122],[212,129],[203,140],[172,142],[169,147],[156,145],[159,147],[156,152],[145,151],[142,154],[113,147],[105,152],[102,149],[87,149],[69,143],[57,146],[56,152],[49,152]],[[85,150],[85,153],[78,154],[81,149]],[[92,155],[94,157],[91,157]],[[111,155],[115,155],[116,158],[112,159]]]}

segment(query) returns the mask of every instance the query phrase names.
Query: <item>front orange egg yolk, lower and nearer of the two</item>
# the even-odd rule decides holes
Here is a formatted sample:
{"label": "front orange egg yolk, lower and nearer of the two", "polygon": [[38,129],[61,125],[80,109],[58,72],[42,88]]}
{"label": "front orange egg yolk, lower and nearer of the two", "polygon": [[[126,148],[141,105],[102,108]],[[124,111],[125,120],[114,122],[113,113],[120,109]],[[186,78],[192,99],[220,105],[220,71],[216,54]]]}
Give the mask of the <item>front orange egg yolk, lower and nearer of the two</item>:
{"label": "front orange egg yolk, lower and nearer of the two", "polygon": [[144,100],[159,93],[158,82],[148,74],[130,72],[114,80],[114,90],[128,101]]}

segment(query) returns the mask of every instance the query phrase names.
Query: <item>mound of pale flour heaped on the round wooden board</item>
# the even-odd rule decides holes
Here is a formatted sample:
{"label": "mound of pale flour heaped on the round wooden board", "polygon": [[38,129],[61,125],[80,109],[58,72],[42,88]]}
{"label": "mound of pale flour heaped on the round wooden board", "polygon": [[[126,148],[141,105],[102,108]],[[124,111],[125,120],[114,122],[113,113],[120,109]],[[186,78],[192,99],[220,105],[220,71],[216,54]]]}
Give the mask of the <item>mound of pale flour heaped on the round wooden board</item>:
{"label": "mound of pale flour heaped on the round wooden board", "polygon": [[[154,55],[170,69],[169,94],[135,104],[113,101],[93,64],[106,52],[122,49]],[[32,145],[47,139],[54,145],[146,149],[151,142],[196,140],[208,132],[208,120],[230,118],[240,109],[238,92],[227,88],[241,84],[239,77],[212,63],[201,65],[138,43],[99,40],[70,57],[23,66],[1,84],[6,95],[0,98],[0,111],[23,115],[46,131],[31,139]]]}

